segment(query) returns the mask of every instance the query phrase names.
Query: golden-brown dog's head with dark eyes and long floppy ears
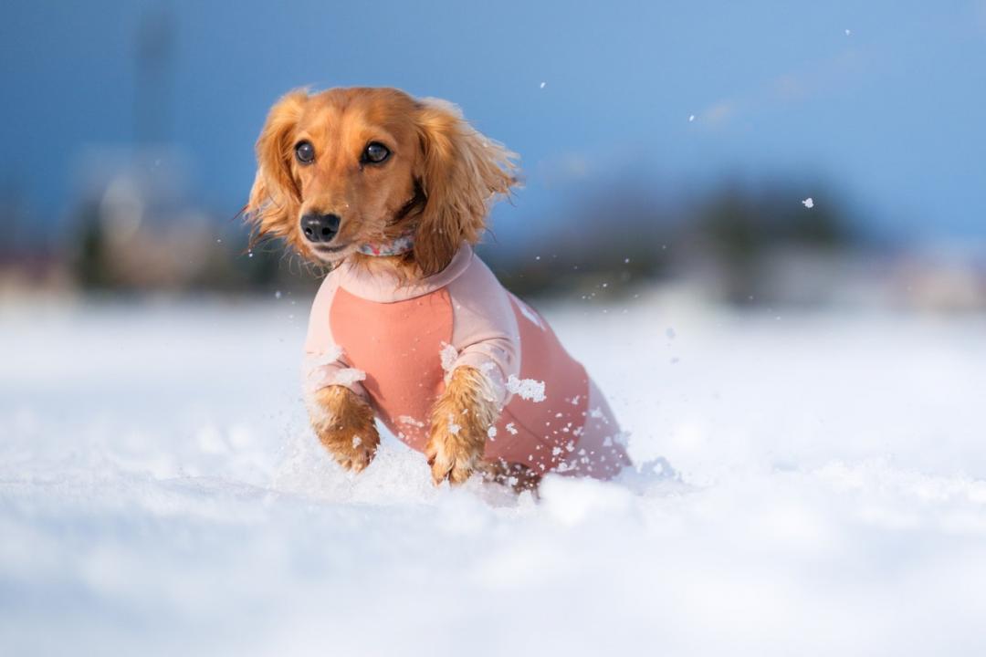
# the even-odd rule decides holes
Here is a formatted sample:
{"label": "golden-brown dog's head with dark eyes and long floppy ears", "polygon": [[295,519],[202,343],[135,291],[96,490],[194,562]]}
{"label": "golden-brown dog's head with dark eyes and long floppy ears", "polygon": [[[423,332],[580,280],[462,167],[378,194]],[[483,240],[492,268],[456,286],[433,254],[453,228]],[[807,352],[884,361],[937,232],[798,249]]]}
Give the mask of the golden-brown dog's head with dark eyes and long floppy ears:
{"label": "golden-brown dog's head with dark eyes and long floppy ears", "polygon": [[413,234],[421,275],[475,243],[489,204],[516,184],[516,156],[455,106],[395,89],[296,91],[270,110],[246,206],[258,233],[337,264]]}

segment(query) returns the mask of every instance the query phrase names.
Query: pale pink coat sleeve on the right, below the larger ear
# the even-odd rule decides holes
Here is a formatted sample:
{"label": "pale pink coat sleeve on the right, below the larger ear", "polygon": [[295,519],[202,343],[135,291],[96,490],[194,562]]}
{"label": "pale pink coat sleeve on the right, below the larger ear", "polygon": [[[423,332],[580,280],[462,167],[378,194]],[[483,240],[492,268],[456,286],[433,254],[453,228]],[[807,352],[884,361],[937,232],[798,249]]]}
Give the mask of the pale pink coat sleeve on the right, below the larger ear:
{"label": "pale pink coat sleeve on the right, below the larger ear", "polygon": [[[473,256],[468,269],[449,285],[453,306],[452,355],[448,371],[469,365],[485,373],[501,406],[510,401],[507,383],[521,373],[521,339],[510,295],[493,272]],[[451,361],[449,363],[448,361]]]}

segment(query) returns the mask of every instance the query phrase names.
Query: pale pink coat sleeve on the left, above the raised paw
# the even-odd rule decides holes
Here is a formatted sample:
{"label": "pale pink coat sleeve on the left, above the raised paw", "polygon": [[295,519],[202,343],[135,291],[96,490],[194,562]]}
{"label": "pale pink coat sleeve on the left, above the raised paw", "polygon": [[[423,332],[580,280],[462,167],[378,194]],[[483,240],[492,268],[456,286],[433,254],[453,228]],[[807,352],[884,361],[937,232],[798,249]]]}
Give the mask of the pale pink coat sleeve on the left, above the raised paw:
{"label": "pale pink coat sleeve on the left, above the raised paw", "polygon": [[367,399],[366,390],[360,383],[366,378],[366,373],[349,365],[343,347],[332,338],[329,315],[337,289],[338,282],[329,274],[321,282],[312,303],[302,366],[305,394],[308,397],[330,385],[341,385]]}

